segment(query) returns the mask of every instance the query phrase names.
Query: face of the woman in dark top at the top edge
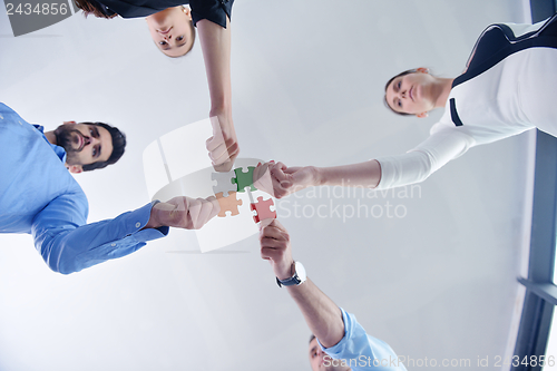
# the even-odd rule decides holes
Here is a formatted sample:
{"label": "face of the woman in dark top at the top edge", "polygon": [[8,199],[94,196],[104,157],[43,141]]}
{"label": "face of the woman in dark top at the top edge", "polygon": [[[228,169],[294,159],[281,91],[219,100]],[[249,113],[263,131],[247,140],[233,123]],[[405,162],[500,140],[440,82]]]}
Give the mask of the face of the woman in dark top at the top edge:
{"label": "face of the woman in dark top at the top edge", "polygon": [[145,19],[150,37],[165,55],[179,57],[187,53],[195,39],[189,9],[183,7],[167,8]]}

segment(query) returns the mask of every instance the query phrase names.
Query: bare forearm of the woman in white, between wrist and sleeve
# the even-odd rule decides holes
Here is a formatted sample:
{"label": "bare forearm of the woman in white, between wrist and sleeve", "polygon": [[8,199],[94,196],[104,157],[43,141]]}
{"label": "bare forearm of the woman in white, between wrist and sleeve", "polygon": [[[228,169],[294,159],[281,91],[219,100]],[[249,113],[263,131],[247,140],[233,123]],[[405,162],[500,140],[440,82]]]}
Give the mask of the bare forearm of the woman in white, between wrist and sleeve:
{"label": "bare forearm of the woman in white, between wrist and sleeve", "polygon": [[381,180],[381,165],[377,160],[365,163],[317,167],[317,183],[328,186],[363,186],[374,188]]}

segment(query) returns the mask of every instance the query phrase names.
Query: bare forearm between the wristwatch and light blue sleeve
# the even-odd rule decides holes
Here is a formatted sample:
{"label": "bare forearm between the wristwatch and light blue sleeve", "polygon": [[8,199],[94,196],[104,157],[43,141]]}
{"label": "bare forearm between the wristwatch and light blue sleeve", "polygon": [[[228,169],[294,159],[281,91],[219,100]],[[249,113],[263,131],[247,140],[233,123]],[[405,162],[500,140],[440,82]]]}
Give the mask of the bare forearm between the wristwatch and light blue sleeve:
{"label": "bare forearm between the wristwatch and light blue sleeve", "polygon": [[305,318],[307,326],[325,348],[339,343],[344,336],[344,322],[339,306],[307,279],[297,286],[287,287]]}

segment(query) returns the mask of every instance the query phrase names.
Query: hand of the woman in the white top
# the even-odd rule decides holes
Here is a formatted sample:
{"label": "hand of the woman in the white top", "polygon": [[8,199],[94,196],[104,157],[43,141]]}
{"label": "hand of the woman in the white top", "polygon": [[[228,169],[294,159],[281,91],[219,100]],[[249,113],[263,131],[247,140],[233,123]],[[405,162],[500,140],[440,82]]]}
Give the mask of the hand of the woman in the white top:
{"label": "hand of the woman in the white top", "polygon": [[285,197],[310,186],[320,185],[317,168],[314,166],[287,167],[283,163],[265,163],[254,170],[257,189],[276,198]]}

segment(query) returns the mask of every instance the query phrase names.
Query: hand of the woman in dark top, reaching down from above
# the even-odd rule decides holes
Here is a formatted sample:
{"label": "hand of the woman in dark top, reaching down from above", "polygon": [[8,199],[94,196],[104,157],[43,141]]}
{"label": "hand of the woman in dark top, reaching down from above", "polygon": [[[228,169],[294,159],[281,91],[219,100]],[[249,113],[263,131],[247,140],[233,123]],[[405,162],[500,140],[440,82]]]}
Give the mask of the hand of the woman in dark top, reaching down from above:
{"label": "hand of the woman in dark top, reaching down from above", "polygon": [[228,172],[240,154],[232,115],[212,116],[211,125],[213,126],[213,136],[206,141],[211,162],[215,172]]}

